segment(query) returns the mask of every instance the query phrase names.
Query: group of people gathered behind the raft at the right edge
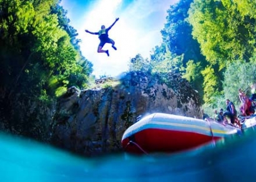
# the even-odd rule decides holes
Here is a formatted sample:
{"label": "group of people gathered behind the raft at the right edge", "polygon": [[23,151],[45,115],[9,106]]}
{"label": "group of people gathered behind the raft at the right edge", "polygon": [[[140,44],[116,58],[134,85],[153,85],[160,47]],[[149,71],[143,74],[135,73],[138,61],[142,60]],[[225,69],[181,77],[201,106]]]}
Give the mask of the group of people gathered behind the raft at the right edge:
{"label": "group of people gathered behind the raft at the right edge", "polygon": [[[241,101],[240,106],[240,115],[243,117],[249,117],[255,112],[255,102],[256,94],[252,94],[252,96],[249,98],[247,95],[242,91],[242,89],[239,89],[239,99]],[[214,110],[214,115],[212,117],[209,117],[208,114],[204,113],[204,109],[202,109],[202,119],[206,121],[217,121],[222,124],[237,124],[241,128],[240,120],[237,117],[237,110],[235,109],[235,105],[233,102],[231,102],[229,99],[225,100],[225,103],[227,105],[226,110],[220,109],[218,112],[216,109]],[[229,117],[230,122],[228,121],[227,117]]]}

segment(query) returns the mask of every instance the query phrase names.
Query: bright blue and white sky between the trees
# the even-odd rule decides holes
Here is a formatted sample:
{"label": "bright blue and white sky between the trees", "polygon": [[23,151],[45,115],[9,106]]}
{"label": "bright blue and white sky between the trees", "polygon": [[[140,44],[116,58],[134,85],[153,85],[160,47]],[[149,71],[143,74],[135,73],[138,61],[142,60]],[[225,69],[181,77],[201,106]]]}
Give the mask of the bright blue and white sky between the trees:
{"label": "bright blue and white sky between the trees", "polygon": [[[166,22],[167,9],[179,0],[62,0],[71,25],[78,32],[82,55],[91,61],[93,75],[117,76],[128,70],[130,58],[140,53],[148,58],[150,51],[160,45],[160,30]],[[101,25],[109,27],[116,17],[119,21],[109,31],[117,50],[104,45],[106,53],[97,53],[99,39],[84,30],[98,32]]]}

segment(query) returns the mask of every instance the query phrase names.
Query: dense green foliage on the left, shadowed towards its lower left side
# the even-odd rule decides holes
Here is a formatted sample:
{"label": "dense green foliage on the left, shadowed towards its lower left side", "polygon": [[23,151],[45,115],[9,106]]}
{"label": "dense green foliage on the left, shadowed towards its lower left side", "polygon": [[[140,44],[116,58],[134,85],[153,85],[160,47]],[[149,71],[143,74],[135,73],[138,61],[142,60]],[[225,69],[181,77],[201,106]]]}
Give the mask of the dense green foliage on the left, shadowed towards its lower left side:
{"label": "dense green foliage on the left, shadowed towards its lower left side", "polygon": [[68,23],[57,0],[0,0],[0,120],[22,125],[26,113],[37,112],[26,110],[31,103],[51,104],[70,86],[86,88],[92,63]]}

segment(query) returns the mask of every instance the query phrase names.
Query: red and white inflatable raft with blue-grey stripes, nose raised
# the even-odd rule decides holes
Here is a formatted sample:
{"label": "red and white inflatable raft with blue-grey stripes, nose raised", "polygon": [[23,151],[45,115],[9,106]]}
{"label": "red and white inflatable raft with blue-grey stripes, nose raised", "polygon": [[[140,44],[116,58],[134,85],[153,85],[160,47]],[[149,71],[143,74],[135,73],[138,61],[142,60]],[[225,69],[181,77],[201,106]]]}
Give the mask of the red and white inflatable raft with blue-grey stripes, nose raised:
{"label": "red and white inflatable raft with blue-grey stripes, nose raised", "polygon": [[122,136],[126,152],[178,152],[240,132],[218,122],[154,113],[131,125]]}

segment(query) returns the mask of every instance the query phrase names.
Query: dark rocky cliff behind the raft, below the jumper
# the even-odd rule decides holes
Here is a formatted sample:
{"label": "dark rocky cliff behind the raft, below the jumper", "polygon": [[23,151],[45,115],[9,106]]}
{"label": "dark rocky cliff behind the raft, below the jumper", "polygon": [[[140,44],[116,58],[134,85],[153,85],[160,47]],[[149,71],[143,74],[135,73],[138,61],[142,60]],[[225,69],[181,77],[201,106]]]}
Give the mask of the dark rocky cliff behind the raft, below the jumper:
{"label": "dark rocky cliff behind the raft, below the jumper", "polygon": [[69,88],[58,102],[51,142],[87,156],[120,152],[127,127],[153,112],[198,118],[197,91],[179,73],[163,81],[142,72],[97,80],[93,89]]}

